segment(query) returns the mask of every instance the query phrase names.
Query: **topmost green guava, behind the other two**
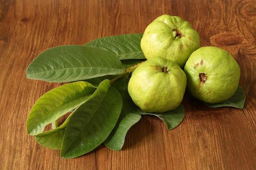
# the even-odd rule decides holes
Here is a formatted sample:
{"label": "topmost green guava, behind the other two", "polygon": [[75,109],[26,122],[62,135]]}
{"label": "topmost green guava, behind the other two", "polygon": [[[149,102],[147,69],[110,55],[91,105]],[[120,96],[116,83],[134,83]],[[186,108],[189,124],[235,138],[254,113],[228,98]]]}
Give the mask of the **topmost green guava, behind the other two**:
{"label": "topmost green guava, behind the other two", "polygon": [[177,62],[181,68],[198,48],[198,32],[178,16],[159,16],[146,27],[141,38],[141,49],[146,59],[164,57]]}

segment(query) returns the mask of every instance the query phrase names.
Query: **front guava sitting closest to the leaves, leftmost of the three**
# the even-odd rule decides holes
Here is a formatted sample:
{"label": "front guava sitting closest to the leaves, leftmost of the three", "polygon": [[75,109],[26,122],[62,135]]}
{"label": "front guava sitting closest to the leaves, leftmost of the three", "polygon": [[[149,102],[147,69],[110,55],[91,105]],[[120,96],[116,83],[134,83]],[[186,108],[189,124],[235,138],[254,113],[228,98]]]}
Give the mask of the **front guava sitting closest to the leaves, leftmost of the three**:
{"label": "front guava sitting closest to the leaves, leftmost of the three", "polygon": [[147,113],[164,113],[180,105],[186,90],[186,75],[180,66],[162,57],[140,64],[128,83],[132,101]]}

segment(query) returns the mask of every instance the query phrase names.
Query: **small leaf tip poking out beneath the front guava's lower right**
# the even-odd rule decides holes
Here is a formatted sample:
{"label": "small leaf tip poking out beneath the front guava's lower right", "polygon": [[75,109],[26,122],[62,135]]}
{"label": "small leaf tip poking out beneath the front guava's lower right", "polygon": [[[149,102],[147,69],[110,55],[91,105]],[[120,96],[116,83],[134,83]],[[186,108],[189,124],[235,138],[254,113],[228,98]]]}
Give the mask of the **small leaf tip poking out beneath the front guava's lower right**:
{"label": "small leaf tip poking out beneath the front guava's lower right", "polygon": [[145,113],[141,110],[142,115],[154,115],[159,117],[162,121],[164,121],[168,130],[176,128],[180,122],[183,120],[185,113],[182,104],[175,108],[174,110],[170,110],[164,113]]}

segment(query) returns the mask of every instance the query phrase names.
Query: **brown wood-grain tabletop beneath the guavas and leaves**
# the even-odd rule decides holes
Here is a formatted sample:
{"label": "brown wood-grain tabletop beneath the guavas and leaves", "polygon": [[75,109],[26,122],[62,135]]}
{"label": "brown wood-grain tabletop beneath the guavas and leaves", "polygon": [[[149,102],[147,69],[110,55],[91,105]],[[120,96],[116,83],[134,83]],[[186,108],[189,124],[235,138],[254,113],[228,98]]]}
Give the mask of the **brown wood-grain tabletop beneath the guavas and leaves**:
{"label": "brown wood-grain tabletop beneath the guavas and leaves", "polygon": [[[185,117],[167,130],[144,115],[121,151],[100,145],[75,159],[40,146],[26,132],[36,100],[60,86],[27,79],[42,51],[96,38],[143,33],[162,14],[198,31],[201,46],[229,51],[241,68],[243,109],[183,101]],[[1,170],[253,170],[256,168],[256,2],[254,0],[2,0],[0,1]]]}

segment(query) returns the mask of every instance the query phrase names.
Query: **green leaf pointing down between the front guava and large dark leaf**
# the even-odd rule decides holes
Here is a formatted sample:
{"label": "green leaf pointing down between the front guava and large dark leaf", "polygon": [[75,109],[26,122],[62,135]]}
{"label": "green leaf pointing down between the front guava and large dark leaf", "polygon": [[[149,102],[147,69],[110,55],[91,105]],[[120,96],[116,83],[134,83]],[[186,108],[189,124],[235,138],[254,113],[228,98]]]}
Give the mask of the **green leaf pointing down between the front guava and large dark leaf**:
{"label": "green leaf pointing down between the front guava and large dark leaf", "polygon": [[123,107],[115,128],[108,138],[103,142],[112,150],[121,150],[128,130],[141,119],[141,114],[136,105],[132,102],[127,90],[129,78],[121,77],[112,87],[117,88],[123,100]]}

